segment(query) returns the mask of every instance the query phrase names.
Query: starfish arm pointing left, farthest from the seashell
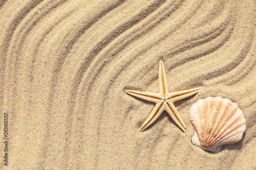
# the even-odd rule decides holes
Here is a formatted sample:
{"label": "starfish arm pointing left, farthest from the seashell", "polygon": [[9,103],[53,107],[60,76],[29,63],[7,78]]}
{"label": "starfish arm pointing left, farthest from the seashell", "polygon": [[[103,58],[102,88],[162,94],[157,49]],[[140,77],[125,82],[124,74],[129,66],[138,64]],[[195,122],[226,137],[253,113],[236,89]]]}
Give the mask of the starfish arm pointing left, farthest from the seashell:
{"label": "starfish arm pointing left, farthest from the seashell", "polygon": [[148,102],[159,103],[161,102],[161,100],[163,100],[158,93],[150,93],[150,92],[134,91],[134,90],[125,90],[125,92],[135,96],[136,98],[140,98]]}

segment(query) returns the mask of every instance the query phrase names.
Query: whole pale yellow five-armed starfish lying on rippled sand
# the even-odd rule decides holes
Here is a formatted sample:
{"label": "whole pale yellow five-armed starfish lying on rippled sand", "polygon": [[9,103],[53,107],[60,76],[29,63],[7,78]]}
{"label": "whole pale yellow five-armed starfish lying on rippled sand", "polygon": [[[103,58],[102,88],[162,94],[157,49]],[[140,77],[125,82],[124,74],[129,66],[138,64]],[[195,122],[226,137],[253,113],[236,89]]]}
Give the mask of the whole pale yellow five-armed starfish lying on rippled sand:
{"label": "whole pale yellow five-armed starfish lying on rippled sand", "polygon": [[165,76],[165,70],[163,67],[163,61],[161,60],[159,63],[159,93],[134,90],[125,90],[125,92],[145,101],[156,103],[156,106],[154,107],[150,116],[148,116],[148,118],[145,120],[139,131],[145,130],[148,126],[156,121],[156,119],[162,114],[163,111],[167,111],[174,122],[184,132],[186,132],[186,125],[184,124],[181,116],[175,108],[174,102],[188,98],[189,96],[197,93],[200,89],[201,87],[170,93]]}

